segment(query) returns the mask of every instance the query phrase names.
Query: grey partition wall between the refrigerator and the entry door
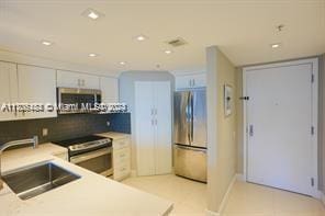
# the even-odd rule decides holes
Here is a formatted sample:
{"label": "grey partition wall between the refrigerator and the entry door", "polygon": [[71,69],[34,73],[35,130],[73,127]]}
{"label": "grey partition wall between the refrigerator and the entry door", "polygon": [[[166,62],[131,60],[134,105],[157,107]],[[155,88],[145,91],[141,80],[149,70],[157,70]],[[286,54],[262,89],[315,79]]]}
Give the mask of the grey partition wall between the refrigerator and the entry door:
{"label": "grey partition wall between the refrigerator and the entry door", "polygon": [[[237,168],[237,71],[216,47],[206,48],[208,209],[221,212]],[[224,84],[233,87],[233,113],[224,115]]]}

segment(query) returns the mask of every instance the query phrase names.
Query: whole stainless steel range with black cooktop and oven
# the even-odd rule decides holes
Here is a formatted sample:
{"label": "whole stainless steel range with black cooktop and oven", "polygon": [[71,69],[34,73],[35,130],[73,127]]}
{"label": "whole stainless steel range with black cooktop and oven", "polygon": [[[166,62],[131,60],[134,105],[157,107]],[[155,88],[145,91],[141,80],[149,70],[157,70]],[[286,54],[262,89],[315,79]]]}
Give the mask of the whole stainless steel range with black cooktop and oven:
{"label": "whole stainless steel range with black cooktop and oven", "polygon": [[54,143],[68,148],[70,162],[105,177],[113,174],[110,138],[91,135]]}

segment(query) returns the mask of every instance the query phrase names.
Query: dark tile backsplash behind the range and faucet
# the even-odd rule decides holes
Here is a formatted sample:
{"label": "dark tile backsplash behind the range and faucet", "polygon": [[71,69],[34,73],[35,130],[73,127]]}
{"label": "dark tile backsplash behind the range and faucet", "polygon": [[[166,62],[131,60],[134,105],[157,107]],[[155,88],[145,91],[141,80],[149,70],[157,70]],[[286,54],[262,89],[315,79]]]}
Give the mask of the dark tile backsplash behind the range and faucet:
{"label": "dark tile backsplash behind the range and faucet", "polygon": [[[42,136],[43,128],[48,129],[47,136]],[[33,135],[37,135],[42,144],[103,132],[131,134],[131,114],[66,114],[53,118],[0,122],[0,146]]]}

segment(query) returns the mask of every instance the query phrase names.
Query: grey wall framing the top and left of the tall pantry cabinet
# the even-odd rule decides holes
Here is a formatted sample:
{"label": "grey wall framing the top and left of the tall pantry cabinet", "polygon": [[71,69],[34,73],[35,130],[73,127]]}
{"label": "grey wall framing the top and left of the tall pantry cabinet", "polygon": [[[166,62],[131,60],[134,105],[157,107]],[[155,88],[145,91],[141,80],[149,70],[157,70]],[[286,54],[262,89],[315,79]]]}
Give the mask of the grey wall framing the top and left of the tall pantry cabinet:
{"label": "grey wall framing the top and left of the tall pantry cabinet", "polygon": [[[132,163],[131,168],[136,170],[136,146],[134,137],[135,117],[134,111],[134,82],[135,81],[170,81],[171,95],[173,95],[175,77],[168,71],[126,71],[122,72],[119,79],[120,88],[120,102],[124,102],[128,105],[131,112],[131,125],[132,125]],[[146,99],[144,99],[146,100]],[[171,96],[172,104],[172,96]],[[170,135],[171,136],[171,135]]]}

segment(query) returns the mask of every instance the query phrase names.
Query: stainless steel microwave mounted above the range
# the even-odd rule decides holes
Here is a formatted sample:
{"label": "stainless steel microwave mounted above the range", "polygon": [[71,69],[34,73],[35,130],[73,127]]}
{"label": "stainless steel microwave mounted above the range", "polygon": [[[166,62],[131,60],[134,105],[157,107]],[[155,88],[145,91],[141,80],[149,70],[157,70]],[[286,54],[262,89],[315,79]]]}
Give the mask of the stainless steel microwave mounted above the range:
{"label": "stainless steel microwave mounted above the range", "polygon": [[101,103],[101,90],[57,88],[59,114],[91,113],[94,104]]}

